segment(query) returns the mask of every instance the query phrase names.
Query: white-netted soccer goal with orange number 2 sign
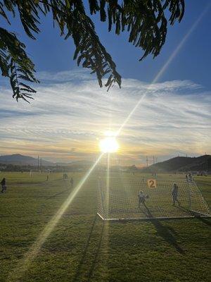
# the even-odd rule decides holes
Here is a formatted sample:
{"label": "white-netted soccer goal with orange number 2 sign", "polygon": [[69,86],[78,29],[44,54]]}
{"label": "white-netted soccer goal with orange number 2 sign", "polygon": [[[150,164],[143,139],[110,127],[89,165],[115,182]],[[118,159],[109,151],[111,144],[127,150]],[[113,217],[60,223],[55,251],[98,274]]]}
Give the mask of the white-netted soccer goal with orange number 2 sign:
{"label": "white-netted soccer goal with orange number 2 sign", "polygon": [[[172,192],[175,184],[177,195]],[[208,217],[210,210],[193,180],[110,177],[98,179],[98,216],[103,220],[179,219]]]}

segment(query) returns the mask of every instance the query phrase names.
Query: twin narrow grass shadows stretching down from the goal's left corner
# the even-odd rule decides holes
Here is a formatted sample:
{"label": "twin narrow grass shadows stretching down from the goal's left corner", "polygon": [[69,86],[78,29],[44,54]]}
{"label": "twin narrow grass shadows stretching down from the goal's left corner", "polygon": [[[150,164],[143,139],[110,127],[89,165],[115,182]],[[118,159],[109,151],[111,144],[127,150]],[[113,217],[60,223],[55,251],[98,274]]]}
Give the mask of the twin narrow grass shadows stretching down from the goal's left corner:
{"label": "twin narrow grass shadows stretching down from the goal's left corner", "polygon": [[[87,252],[88,252],[88,249],[89,249],[89,244],[90,244],[90,241],[91,241],[91,237],[93,235],[93,231],[94,231],[94,226],[96,224],[96,221],[98,219],[98,215],[96,214],[95,218],[94,218],[94,221],[91,225],[91,230],[90,230],[90,233],[89,233],[89,237],[88,237],[88,240],[87,240],[87,243],[84,247],[84,252],[82,252],[82,258],[80,259],[79,261],[79,265],[77,266],[77,271],[75,273],[75,276],[72,280],[72,282],[77,282],[77,281],[81,281],[81,273],[82,273],[82,266],[84,265],[84,262],[85,262],[85,259],[87,257]],[[103,223],[103,226],[101,228],[101,234],[100,234],[100,238],[99,238],[99,241],[98,241],[98,244],[97,244],[97,247],[96,247],[96,252],[94,253],[94,259],[93,259],[93,262],[91,263],[91,267],[89,269],[89,274],[87,275],[87,282],[90,281],[93,273],[94,273],[94,269],[95,269],[95,266],[96,266],[96,263],[98,261],[98,254],[99,254],[99,250],[101,249],[101,243],[102,243],[102,239],[103,239],[103,230],[104,230],[104,223]]]}

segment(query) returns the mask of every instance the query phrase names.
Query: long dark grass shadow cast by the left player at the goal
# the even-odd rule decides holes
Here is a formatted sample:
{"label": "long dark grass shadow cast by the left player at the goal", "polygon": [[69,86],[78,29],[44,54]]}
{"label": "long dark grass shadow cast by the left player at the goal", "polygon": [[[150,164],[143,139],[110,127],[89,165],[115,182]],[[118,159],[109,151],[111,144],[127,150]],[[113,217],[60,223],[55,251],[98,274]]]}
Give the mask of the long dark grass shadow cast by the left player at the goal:
{"label": "long dark grass shadow cast by the left player at the goal", "polygon": [[158,235],[160,235],[160,237],[162,237],[167,243],[172,245],[177,250],[177,252],[184,254],[184,250],[182,250],[182,248],[177,243],[177,239],[174,237],[175,235],[177,235],[176,231],[174,231],[174,228],[162,225],[162,223],[158,219],[155,219],[153,217],[153,214],[151,214],[148,207],[146,207],[146,214],[150,218],[149,221],[151,221],[153,226],[155,226]]}

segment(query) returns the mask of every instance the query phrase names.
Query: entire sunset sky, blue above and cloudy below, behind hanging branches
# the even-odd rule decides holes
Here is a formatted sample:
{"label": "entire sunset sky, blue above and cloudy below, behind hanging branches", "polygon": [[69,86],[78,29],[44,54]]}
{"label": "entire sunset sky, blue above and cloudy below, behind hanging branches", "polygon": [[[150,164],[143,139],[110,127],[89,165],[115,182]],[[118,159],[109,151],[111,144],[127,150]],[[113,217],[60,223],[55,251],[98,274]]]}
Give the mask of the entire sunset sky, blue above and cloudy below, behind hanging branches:
{"label": "entire sunset sky, blue above and cloudy below, behind hanging branches", "polygon": [[117,137],[119,164],[144,166],[146,156],[152,163],[153,156],[163,161],[209,154],[211,6],[207,5],[207,0],[187,0],[184,19],[169,27],[160,55],[142,62],[143,53],[127,42],[127,33],[109,33],[106,23],[94,16],[101,42],[122,75],[122,88],[115,85],[109,92],[72,61],[74,45],[71,39],[60,38],[51,18],[41,19],[44,24],[36,41],[13,20],[9,30],[27,44],[41,83],[35,85],[31,104],[17,103],[7,80],[1,78],[0,154],[94,160],[106,131],[117,131],[134,107]]}

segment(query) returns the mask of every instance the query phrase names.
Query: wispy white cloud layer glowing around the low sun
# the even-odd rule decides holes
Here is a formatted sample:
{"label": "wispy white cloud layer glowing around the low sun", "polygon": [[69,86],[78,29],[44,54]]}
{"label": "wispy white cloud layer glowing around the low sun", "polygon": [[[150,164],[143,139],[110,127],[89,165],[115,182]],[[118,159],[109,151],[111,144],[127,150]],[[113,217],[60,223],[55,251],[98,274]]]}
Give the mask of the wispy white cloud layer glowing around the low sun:
{"label": "wispy white cloud layer glowing around the low sun", "polygon": [[42,154],[53,161],[94,157],[106,130],[118,130],[148,92],[118,137],[125,163],[210,151],[210,93],[191,81],[149,85],[124,79],[122,89],[100,89],[87,72],[39,73],[32,104],[0,93],[0,153]]}

